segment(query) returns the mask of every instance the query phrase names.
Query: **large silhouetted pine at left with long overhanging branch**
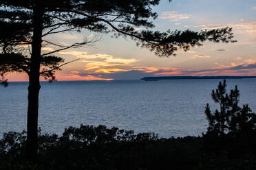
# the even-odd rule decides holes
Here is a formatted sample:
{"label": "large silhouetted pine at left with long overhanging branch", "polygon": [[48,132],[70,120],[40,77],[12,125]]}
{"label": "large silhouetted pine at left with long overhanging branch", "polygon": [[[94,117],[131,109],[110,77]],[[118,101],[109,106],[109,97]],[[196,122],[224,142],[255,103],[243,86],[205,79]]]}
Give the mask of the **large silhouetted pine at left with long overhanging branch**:
{"label": "large silhouetted pine at left with long overhanging branch", "polygon": [[[156,19],[152,6],[160,0],[0,0],[0,73],[4,85],[6,73],[25,72],[28,86],[28,156],[36,160],[38,148],[39,77],[54,81],[54,71],[60,69],[63,58],[51,56],[61,50],[81,47],[96,40],[84,40],[72,45],[61,45],[45,40],[46,36],[87,29],[98,33],[129,36],[140,47],[158,56],[174,55],[178,49],[189,50],[205,40],[231,42],[231,28],[193,32],[153,32],[148,19]],[[136,27],[145,30],[138,31]],[[27,51],[24,46],[27,45]],[[54,45],[56,49],[41,53],[41,47]],[[67,63],[65,63],[67,64]]]}

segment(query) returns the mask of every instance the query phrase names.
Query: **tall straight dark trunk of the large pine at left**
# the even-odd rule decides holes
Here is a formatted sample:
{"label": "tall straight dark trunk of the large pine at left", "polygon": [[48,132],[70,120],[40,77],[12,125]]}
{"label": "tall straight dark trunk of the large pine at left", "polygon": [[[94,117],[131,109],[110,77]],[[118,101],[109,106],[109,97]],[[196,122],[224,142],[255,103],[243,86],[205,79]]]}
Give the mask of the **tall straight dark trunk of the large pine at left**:
{"label": "tall straight dark trunk of the large pine at left", "polygon": [[27,154],[28,160],[36,163],[38,154],[39,90],[41,87],[39,73],[43,32],[43,10],[41,10],[39,4],[34,8],[33,28],[32,55],[28,86]]}

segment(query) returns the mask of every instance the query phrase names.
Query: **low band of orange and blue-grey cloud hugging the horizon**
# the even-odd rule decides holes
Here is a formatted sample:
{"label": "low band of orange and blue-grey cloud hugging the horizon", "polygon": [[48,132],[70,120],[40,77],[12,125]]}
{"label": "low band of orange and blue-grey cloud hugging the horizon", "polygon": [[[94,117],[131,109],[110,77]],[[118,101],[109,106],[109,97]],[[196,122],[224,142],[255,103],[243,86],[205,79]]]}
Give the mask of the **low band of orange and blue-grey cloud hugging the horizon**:
{"label": "low band of orange and blue-grey cloud hugging the horizon", "polygon": [[[182,75],[255,75],[256,74],[256,60],[244,60],[244,62],[231,63],[224,65],[215,63],[217,66],[210,69],[177,69],[167,67],[153,67],[153,66],[131,66],[128,69],[105,69],[98,70],[93,73],[86,71],[76,72],[72,71],[65,77],[73,80],[139,80],[142,77],[151,76],[182,76]],[[62,78],[63,79],[63,78]]]}

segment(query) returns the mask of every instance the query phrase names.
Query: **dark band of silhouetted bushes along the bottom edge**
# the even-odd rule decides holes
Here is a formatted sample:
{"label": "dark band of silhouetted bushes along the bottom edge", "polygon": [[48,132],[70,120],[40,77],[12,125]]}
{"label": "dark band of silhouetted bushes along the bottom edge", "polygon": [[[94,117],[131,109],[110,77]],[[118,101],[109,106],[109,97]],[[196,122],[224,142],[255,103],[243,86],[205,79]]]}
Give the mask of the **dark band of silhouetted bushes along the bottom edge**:
{"label": "dark band of silhouetted bushes along the bottom edge", "polygon": [[[0,140],[0,169],[246,169],[256,167],[256,152],[232,154],[228,149],[204,150],[204,137],[158,138],[81,125],[68,127],[62,136],[39,133],[39,161],[23,159],[26,133],[9,132]],[[229,145],[231,142],[229,141]],[[250,146],[251,147],[251,146]]]}

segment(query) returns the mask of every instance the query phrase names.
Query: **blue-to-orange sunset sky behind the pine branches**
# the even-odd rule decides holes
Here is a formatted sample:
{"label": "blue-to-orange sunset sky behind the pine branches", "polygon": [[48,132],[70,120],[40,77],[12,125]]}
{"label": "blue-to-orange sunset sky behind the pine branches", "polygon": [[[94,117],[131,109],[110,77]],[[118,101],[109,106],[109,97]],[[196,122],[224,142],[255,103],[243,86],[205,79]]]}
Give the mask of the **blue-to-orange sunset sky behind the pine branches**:
{"label": "blue-to-orange sunset sky behind the pine branches", "polygon": [[[111,38],[112,34],[55,34],[46,37],[63,45],[83,38],[99,38],[92,46],[56,53],[65,62],[75,60],[56,72],[57,80],[138,80],[146,76],[256,75],[255,0],[161,0],[153,8],[158,19],[154,29],[193,31],[233,27],[235,43],[205,42],[202,47],[177,51],[176,56],[160,58],[148,49],[136,47],[130,38]],[[42,53],[54,47],[43,47]],[[28,76],[12,73],[9,81],[27,81]],[[43,79],[42,79],[43,80]]]}

